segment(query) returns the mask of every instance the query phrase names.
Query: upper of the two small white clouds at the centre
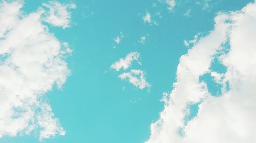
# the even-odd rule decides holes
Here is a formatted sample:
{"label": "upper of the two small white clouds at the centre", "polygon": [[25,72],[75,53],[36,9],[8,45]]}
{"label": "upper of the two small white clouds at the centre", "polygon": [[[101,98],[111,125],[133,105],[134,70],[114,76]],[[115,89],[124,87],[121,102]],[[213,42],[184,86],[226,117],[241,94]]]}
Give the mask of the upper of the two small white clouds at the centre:
{"label": "upper of the two small white clouds at the centre", "polygon": [[139,56],[140,54],[138,52],[130,52],[129,54],[126,55],[124,59],[120,58],[118,61],[113,63],[110,67],[112,69],[115,69],[116,71],[119,71],[121,68],[123,68],[124,70],[127,70],[132,65],[132,62],[134,60],[137,61],[139,64],[141,64],[138,60]]}

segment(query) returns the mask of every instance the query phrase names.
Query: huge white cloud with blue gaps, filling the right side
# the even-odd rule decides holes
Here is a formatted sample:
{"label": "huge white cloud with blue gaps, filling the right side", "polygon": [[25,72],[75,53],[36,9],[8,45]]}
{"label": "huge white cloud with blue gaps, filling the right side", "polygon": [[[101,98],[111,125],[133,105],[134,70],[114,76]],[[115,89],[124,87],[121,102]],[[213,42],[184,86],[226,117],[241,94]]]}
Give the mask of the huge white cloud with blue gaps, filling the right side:
{"label": "huge white cloud with blue gaps, filling the right side", "polygon": [[[147,143],[256,141],[255,8],[249,3],[241,11],[218,13],[214,30],[181,56],[177,82],[163,97],[164,110]],[[227,67],[221,75],[209,70],[215,56]],[[212,96],[199,81],[209,72],[221,84],[221,96]],[[191,105],[199,109],[187,119]]]}

